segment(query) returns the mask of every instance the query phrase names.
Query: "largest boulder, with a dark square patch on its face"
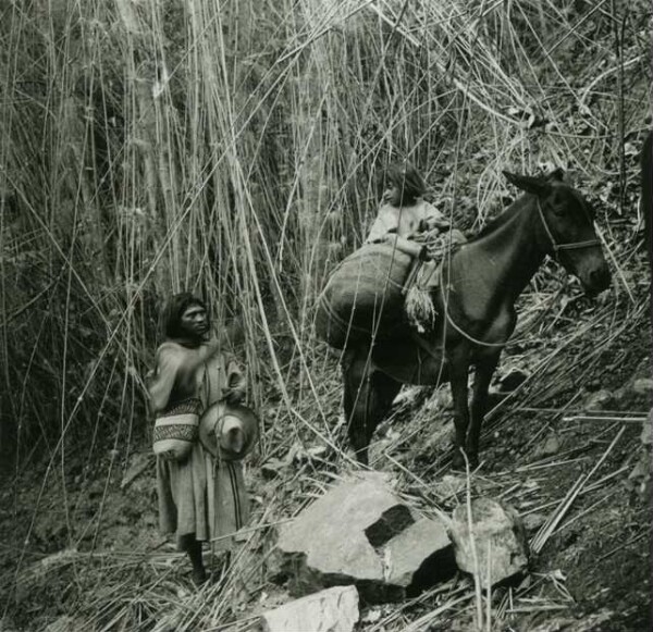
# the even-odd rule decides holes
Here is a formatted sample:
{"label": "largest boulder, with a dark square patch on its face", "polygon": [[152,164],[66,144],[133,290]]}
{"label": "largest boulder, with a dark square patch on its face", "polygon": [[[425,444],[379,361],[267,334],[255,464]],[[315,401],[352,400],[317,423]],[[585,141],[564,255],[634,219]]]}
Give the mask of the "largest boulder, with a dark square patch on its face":
{"label": "largest boulder, with a dark square patch on its face", "polygon": [[416,522],[386,476],[372,472],[344,481],[283,524],[271,570],[272,579],[288,580],[295,596],[355,584],[373,604],[435,582],[439,569],[451,573],[447,554],[453,558],[445,526],[426,518]]}

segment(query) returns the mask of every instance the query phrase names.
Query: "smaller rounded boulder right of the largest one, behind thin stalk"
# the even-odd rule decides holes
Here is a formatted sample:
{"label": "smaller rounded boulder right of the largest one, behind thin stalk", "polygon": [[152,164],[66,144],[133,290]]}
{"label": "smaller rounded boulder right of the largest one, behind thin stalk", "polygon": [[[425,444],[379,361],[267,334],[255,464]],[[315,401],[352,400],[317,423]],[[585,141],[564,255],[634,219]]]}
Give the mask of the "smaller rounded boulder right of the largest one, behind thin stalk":
{"label": "smaller rounded boulder right of the largest one, behind thin stalk", "polygon": [[[526,530],[517,511],[488,497],[471,501],[471,531],[467,505],[454,509],[449,536],[458,568],[494,585],[523,572],[528,566]],[[476,554],[476,555],[475,555]]]}

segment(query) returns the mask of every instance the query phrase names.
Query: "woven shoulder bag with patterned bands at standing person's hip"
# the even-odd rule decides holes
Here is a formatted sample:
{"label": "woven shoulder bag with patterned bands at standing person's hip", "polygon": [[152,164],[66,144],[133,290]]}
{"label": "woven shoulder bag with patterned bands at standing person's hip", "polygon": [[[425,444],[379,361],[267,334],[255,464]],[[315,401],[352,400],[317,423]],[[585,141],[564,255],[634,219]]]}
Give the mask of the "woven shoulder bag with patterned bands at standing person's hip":
{"label": "woven shoulder bag with patterned bands at standing person's hip", "polygon": [[155,422],[155,454],[169,460],[188,458],[198,437],[199,411],[197,398],[184,399],[160,412]]}

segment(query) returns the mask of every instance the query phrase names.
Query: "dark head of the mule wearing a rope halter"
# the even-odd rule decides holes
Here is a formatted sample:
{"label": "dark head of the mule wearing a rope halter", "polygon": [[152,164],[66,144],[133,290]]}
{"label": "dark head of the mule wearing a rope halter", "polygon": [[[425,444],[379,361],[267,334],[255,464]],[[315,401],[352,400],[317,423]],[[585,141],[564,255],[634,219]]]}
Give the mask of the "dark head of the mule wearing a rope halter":
{"label": "dark head of the mule wearing a rope halter", "polygon": [[570,274],[584,292],[596,295],[609,286],[609,270],[594,230],[594,210],[578,190],[563,182],[563,171],[546,177],[504,171],[516,187],[535,197],[538,244]]}

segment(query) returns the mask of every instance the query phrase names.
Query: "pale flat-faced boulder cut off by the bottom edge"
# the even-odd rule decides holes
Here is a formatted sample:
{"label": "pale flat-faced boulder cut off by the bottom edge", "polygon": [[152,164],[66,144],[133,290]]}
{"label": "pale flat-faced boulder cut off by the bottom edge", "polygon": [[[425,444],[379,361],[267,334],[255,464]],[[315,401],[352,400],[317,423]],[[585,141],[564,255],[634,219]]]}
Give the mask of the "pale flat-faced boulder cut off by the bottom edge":
{"label": "pale flat-faced boulder cut off by the bottom edge", "polygon": [[261,616],[261,632],[352,632],[359,619],[358,591],[354,586],[335,586],[289,602]]}

